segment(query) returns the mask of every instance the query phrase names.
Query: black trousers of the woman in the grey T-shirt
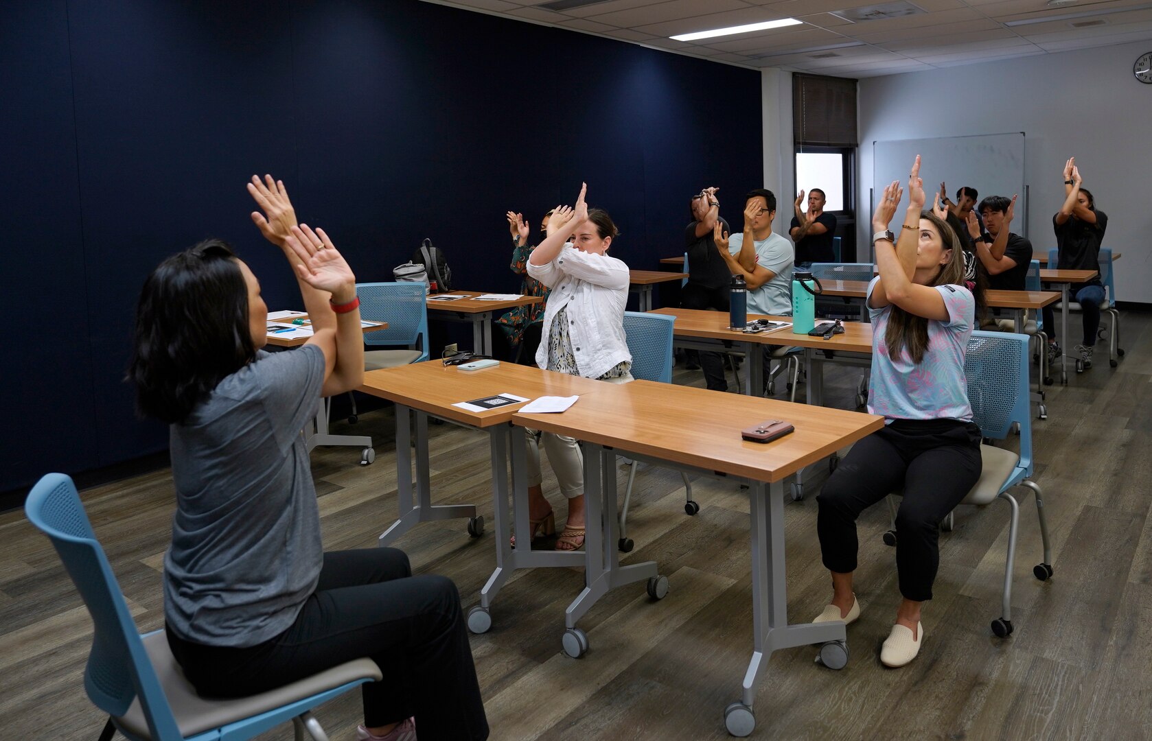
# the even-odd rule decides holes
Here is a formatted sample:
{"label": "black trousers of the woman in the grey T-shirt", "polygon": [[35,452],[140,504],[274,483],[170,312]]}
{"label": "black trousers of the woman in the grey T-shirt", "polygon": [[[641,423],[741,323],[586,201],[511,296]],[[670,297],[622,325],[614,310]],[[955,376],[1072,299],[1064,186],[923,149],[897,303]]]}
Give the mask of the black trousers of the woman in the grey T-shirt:
{"label": "black trousers of the woman in the grey T-shirt", "polygon": [[393,548],[325,553],[296,621],[264,643],[229,648],[167,635],[206,697],[252,695],[366,656],[384,673],[361,687],[366,726],[415,716],[422,741],[488,736],[456,586],[412,576],[408,556]]}

